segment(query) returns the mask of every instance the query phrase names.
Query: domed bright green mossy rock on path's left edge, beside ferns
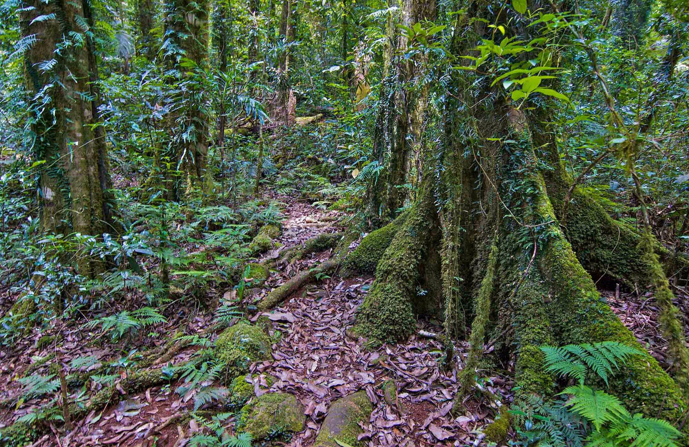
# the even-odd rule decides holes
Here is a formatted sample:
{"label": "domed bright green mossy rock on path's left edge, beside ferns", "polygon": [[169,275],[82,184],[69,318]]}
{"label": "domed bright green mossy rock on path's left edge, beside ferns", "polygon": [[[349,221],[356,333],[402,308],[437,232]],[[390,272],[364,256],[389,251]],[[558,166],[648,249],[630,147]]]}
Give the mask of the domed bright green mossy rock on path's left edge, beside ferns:
{"label": "domed bright green mossy rock on path's left edge, beside ferns", "polygon": [[269,360],[272,351],[270,339],[259,327],[238,323],[218,336],[215,352],[227,365],[225,379],[231,382],[249,371],[251,363]]}

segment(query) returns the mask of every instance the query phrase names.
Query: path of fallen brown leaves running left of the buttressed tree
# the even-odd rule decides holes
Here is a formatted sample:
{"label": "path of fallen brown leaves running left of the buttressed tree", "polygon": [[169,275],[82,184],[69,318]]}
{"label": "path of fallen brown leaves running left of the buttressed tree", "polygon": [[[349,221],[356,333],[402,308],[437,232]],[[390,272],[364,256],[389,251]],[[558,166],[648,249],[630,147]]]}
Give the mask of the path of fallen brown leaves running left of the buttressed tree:
{"label": "path of fallen brown leaves running left of the buttressed tree", "polygon": [[[333,232],[333,213],[320,212],[305,204],[289,204],[280,242],[285,248],[322,232]],[[327,217],[326,217],[327,216]],[[296,237],[298,235],[298,237]],[[300,242],[297,242],[300,243]],[[289,265],[267,283],[284,283],[302,269],[329,257],[321,252]],[[322,279],[292,294],[279,307],[261,312],[268,316],[273,340],[271,361],[253,364],[247,380],[266,384],[277,379],[267,392],[296,395],[305,407],[305,430],[292,437],[291,446],[312,446],[329,409],[337,400],[365,391],[373,411],[362,421],[362,445],[369,446],[465,446],[482,444],[480,428],[492,422],[495,402],[469,401],[464,414],[451,415],[458,389],[457,370],[443,371],[438,340],[412,336],[407,342],[368,349],[364,340],[353,339],[356,309],[373,281],[371,276]],[[435,323],[435,324],[434,324]],[[419,329],[438,333],[435,321],[420,321]],[[464,356],[464,347],[456,347]],[[503,378],[486,380],[486,388],[511,399],[509,383]],[[258,386],[254,387],[258,389]]]}

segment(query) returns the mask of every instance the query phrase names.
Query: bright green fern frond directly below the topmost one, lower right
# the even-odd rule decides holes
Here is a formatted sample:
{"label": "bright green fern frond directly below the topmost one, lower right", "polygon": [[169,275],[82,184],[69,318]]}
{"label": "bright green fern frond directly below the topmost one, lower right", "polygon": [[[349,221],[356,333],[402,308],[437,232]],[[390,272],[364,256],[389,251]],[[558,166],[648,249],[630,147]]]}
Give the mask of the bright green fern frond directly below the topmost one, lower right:
{"label": "bright green fern frond directly below the topmost one, lower right", "polygon": [[605,391],[595,391],[588,386],[568,386],[560,394],[570,394],[565,405],[571,406],[572,411],[588,420],[598,431],[606,422],[619,422],[630,417],[622,402]]}

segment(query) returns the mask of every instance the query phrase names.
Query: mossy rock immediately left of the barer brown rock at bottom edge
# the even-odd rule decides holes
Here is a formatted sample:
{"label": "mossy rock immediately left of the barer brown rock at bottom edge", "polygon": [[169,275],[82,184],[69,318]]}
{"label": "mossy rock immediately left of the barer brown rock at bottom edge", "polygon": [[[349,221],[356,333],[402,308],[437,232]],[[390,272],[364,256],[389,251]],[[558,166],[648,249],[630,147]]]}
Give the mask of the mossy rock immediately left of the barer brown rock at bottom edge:
{"label": "mossy rock immediately left of the barer brown rock at bottom edge", "polygon": [[254,439],[281,437],[303,430],[305,419],[304,406],[294,395],[266,393],[242,408],[238,430]]}

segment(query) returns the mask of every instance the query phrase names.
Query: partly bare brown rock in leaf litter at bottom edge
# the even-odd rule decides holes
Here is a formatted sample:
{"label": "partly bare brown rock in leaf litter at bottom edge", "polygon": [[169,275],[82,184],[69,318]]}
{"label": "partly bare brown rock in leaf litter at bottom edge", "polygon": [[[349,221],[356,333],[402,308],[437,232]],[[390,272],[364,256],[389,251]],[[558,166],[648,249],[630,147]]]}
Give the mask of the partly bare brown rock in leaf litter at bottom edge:
{"label": "partly bare brown rock in leaf litter at bottom edge", "polygon": [[366,391],[357,391],[334,402],[328,409],[314,447],[339,447],[337,441],[353,447],[362,447],[364,443],[357,440],[363,433],[359,422],[367,424],[371,417],[371,401]]}

